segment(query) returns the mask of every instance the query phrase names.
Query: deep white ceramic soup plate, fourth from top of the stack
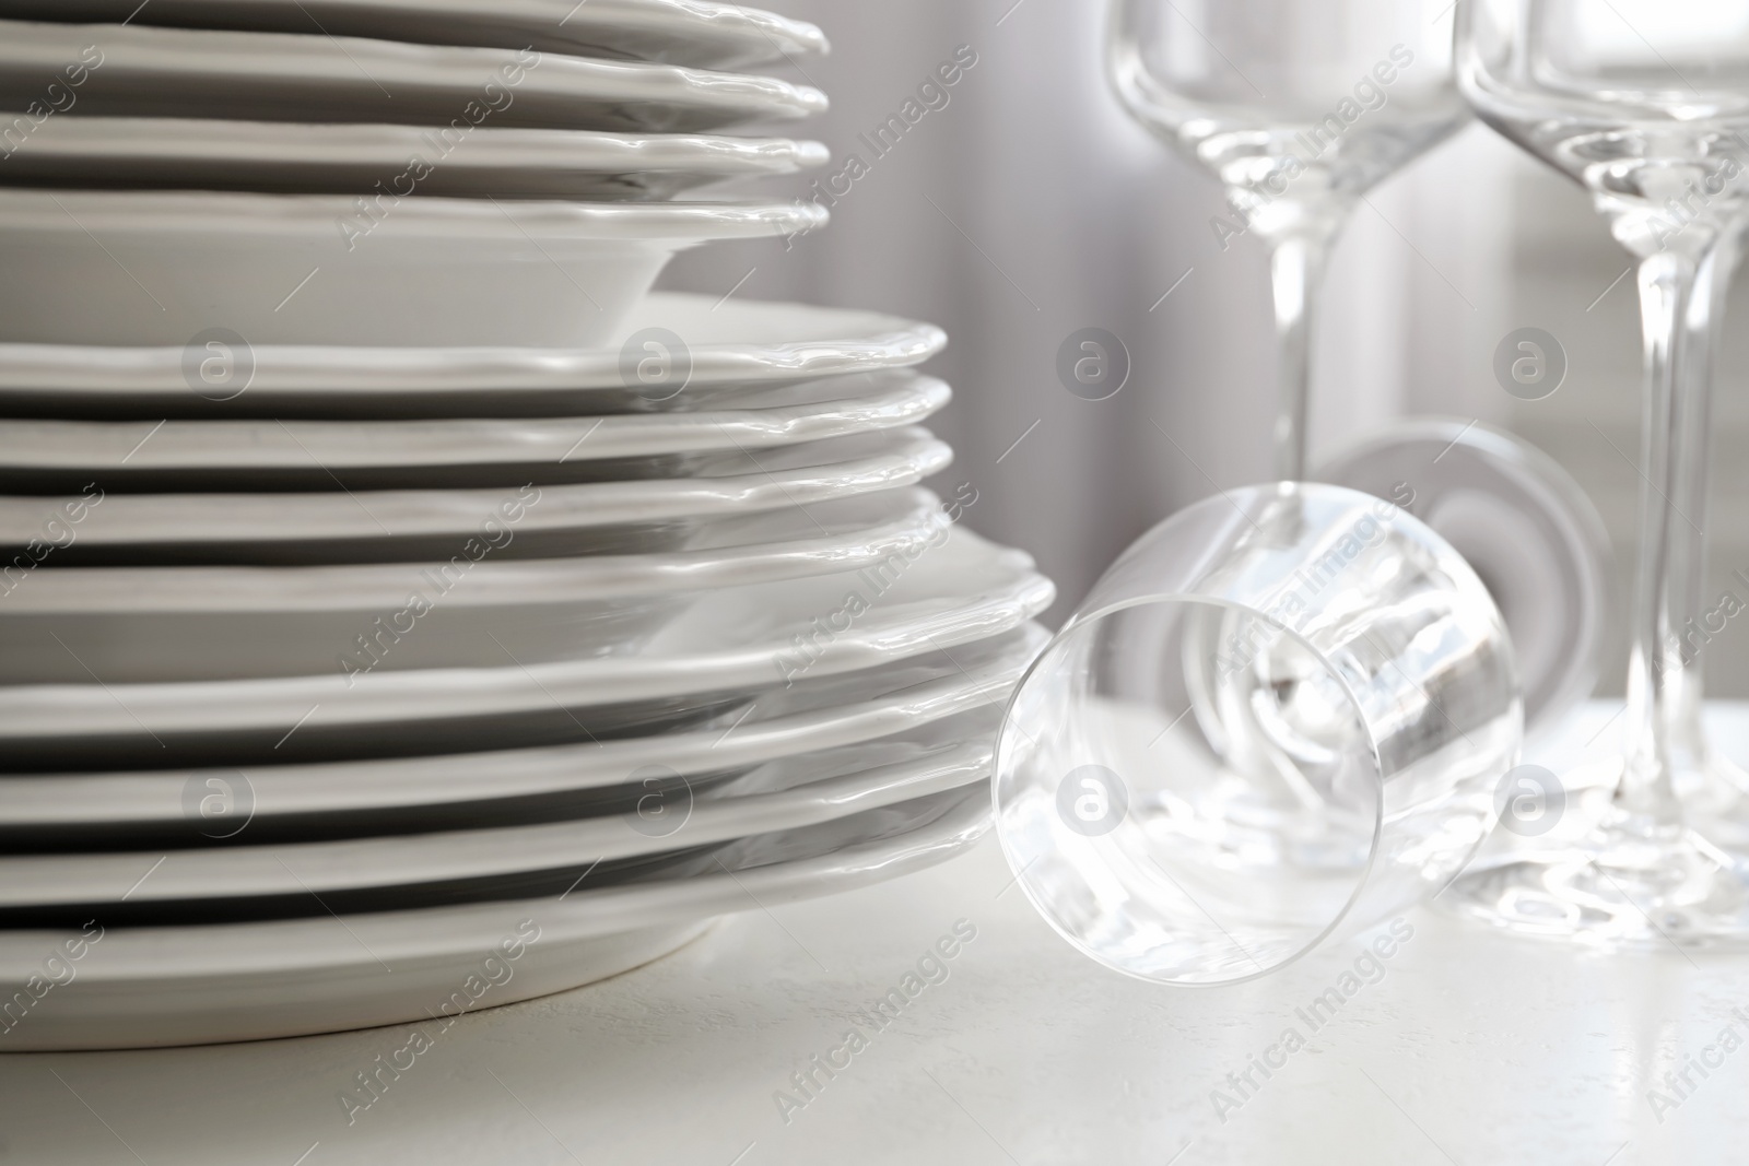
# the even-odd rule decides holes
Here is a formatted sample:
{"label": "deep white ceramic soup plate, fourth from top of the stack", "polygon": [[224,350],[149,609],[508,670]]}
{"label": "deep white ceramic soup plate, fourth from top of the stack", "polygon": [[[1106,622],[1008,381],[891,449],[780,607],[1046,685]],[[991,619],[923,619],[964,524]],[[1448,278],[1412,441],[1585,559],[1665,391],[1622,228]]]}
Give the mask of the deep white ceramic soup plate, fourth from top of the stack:
{"label": "deep white ceramic soup plate, fourth from top of the stack", "polygon": [[234,353],[252,344],[600,344],[675,252],[824,220],[799,199],[360,208],[341,194],[10,189],[0,341],[180,344],[189,392],[224,400],[247,390]]}

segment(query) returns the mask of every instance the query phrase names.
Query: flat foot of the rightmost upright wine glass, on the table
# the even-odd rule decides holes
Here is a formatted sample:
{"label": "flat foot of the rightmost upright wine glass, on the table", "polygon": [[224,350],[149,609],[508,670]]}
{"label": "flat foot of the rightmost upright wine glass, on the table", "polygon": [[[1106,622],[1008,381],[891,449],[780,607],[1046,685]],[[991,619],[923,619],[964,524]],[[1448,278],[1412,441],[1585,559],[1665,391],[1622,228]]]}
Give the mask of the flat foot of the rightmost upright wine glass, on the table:
{"label": "flat foot of the rightmost upright wine glass, on the table", "polygon": [[1698,832],[1607,811],[1592,830],[1471,869],[1445,911],[1520,935],[1609,949],[1749,947],[1749,883]]}

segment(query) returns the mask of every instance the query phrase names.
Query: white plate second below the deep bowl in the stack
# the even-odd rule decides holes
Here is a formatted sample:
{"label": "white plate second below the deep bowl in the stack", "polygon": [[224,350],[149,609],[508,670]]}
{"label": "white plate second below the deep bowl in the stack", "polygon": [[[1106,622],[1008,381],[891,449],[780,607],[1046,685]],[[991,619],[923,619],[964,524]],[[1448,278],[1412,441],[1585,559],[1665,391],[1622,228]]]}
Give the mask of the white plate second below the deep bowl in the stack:
{"label": "white plate second below the deep bowl in the stack", "polygon": [[0,489],[385,489],[680,477],[714,455],[916,425],[951,390],[909,371],[749,393],[735,409],[397,421],[0,420]]}

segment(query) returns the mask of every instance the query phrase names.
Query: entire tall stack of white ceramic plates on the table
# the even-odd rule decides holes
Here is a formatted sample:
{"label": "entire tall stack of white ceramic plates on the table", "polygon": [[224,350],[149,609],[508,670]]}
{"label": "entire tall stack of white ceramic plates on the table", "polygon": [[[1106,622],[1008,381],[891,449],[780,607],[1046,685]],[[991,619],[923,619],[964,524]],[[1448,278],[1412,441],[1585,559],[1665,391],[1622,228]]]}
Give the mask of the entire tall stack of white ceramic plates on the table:
{"label": "entire tall stack of white ceramic plates on the table", "polygon": [[654,201],[824,157],[698,133],[819,30],[0,21],[0,1051],[441,1019],[979,836],[1051,586],[918,486],[943,334],[647,292],[819,226]]}

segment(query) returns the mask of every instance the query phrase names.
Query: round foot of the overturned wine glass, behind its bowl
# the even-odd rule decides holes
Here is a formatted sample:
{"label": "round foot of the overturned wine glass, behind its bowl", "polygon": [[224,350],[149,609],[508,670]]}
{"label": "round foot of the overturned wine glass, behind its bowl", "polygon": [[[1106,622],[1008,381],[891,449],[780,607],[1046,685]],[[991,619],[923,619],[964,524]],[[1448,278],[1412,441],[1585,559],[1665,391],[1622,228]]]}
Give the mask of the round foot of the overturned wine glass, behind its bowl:
{"label": "round foot of the overturned wine glass, behind its bowl", "polygon": [[1476,421],[1422,418],[1336,456],[1317,481],[1411,496],[1404,509],[1476,570],[1511,633],[1527,729],[1560,724],[1592,694],[1609,612],[1609,535],[1558,462]]}

